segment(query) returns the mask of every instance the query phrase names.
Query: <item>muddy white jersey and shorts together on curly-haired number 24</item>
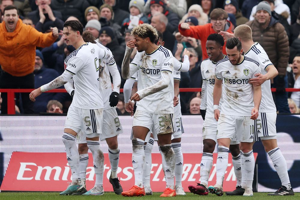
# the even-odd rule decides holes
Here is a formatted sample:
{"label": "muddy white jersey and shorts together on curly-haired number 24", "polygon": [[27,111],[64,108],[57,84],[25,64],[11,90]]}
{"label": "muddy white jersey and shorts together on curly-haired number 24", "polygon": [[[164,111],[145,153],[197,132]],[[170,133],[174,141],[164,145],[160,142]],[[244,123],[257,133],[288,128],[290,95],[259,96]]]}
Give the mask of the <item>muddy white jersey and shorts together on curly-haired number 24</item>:
{"label": "muddy white jersey and shorts together on curly-haired number 24", "polygon": [[[150,54],[145,51],[137,52],[130,63],[129,74],[132,76],[137,72],[139,80],[137,94],[141,100],[134,114],[132,126],[146,127],[153,130],[153,135],[174,132],[173,66],[172,53],[163,46]],[[168,87],[156,91],[162,83],[168,84]]]}

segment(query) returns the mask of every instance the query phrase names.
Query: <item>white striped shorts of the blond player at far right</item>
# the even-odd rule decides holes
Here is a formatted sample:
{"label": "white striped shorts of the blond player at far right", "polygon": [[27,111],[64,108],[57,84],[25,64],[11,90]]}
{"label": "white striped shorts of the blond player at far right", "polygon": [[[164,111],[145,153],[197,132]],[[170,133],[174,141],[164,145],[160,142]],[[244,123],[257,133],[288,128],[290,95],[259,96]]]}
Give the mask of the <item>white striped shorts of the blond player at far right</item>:
{"label": "white striped shorts of the blond player at far right", "polygon": [[[257,122],[257,133],[258,137],[262,140],[266,139],[276,139],[276,112],[259,112]],[[258,141],[258,137],[255,141]]]}

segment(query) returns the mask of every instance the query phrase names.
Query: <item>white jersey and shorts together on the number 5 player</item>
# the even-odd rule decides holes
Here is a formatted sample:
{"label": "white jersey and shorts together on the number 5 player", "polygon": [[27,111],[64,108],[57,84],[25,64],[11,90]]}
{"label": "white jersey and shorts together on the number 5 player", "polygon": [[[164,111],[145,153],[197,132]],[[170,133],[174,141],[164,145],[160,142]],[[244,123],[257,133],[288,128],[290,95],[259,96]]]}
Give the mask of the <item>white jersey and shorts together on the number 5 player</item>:
{"label": "white jersey and shorts together on the number 5 player", "polygon": [[86,43],[64,61],[65,70],[73,75],[75,89],[65,128],[76,133],[82,130],[88,138],[99,136],[102,132],[104,104],[99,91],[99,59],[109,57],[107,51],[96,44]]}

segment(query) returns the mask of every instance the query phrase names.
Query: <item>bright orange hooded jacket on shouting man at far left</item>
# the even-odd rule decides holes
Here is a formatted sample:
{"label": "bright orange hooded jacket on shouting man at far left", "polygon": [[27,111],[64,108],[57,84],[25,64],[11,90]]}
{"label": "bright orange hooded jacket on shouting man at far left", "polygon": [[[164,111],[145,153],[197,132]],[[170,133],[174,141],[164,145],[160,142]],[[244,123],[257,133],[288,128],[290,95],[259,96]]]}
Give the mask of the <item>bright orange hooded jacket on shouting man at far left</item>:
{"label": "bright orange hooded jacket on shouting man at far left", "polygon": [[0,24],[0,64],[2,70],[12,76],[26,76],[33,72],[35,65],[35,46],[50,46],[56,37],[41,33],[32,26],[16,24],[13,32],[7,32],[5,23]]}

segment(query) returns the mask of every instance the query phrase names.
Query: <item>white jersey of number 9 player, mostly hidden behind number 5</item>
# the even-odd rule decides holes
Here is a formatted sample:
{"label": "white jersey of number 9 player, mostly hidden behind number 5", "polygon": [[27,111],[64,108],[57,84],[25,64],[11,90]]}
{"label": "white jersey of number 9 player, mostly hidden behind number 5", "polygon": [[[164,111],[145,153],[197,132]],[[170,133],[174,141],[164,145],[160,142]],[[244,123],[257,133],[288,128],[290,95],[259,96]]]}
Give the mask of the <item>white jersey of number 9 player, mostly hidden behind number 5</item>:
{"label": "white jersey of number 9 player, mostly hidden behind number 5", "polygon": [[[110,49],[108,49],[107,47],[103,46],[100,43],[97,43],[97,45],[101,49],[106,50],[111,55],[110,58],[108,59],[104,59],[104,58],[99,59],[99,88],[100,88],[100,93],[103,97],[104,110],[106,110],[111,108],[109,99],[112,91],[118,93],[120,92],[121,76],[117,68],[116,61]],[[113,76],[113,83],[114,83],[113,89],[110,80],[110,73]]]}

